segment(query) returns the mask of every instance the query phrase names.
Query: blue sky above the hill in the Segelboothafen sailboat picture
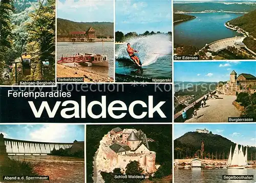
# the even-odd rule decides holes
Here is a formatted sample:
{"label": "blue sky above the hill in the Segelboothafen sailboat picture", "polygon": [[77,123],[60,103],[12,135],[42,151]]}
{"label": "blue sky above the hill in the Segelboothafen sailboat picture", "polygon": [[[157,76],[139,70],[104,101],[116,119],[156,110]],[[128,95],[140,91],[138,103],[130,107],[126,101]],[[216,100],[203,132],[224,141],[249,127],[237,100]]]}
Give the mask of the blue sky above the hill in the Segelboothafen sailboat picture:
{"label": "blue sky above the hill in the Segelboothafen sailboat picture", "polygon": [[255,124],[175,124],[174,139],[183,136],[187,132],[195,132],[196,129],[206,128],[212,134],[221,135],[234,143],[244,146],[256,147],[256,123]]}

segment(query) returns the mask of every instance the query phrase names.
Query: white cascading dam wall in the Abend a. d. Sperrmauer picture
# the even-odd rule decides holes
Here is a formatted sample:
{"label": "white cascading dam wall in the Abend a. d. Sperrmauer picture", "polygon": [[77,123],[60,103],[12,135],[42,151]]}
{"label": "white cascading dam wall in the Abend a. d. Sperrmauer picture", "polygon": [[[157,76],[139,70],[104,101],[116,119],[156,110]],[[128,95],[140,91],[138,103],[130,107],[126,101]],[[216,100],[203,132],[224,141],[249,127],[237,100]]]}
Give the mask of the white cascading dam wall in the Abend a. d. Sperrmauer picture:
{"label": "white cascading dam wall in the Abend a. d. Sperrmauer picture", "polygon": [[34,142],[4,138],[8,155],[50,154],[51,150],[71,148],[73,143]]}

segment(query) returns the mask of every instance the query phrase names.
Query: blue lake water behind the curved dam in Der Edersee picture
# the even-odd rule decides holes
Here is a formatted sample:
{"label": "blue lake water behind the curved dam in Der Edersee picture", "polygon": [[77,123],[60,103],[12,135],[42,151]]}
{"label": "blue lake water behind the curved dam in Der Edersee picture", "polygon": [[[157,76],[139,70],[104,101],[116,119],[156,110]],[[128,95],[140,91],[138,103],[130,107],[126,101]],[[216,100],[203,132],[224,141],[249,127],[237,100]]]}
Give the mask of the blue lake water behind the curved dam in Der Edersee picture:
{"label": "blue lake water behind the curved dam in Der Edersee picture", "polygon": [[174,25],[174,43],[202,48],[206,43],[242,36],[225,27],[225,22],[243,16],[242,13],[187,13],[197,18]]}

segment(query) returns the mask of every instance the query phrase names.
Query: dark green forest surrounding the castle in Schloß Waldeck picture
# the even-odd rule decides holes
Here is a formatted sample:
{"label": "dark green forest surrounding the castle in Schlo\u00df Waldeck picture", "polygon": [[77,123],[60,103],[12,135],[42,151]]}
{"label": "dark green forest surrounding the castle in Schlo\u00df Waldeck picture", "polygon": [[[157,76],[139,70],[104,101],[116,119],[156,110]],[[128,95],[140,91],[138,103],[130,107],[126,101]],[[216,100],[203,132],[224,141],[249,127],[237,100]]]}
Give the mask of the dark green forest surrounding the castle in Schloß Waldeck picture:
{"label": "dark green forest surrounding the castle in Schlo\u00df Waldeck picture", "polygon": [[[161,165],[156,172],[156,178],[172,173],[172,125],[87,125],[87,182],[93,182],[93,157],[99,148],[99,141],[115,127],[141,129],[147,138],[155,140],[148,142],[150,150],[156,152],[156,164]],[[104,174],[104,173],[103,173]],[[111,178],[105,174],[106,177]]]}

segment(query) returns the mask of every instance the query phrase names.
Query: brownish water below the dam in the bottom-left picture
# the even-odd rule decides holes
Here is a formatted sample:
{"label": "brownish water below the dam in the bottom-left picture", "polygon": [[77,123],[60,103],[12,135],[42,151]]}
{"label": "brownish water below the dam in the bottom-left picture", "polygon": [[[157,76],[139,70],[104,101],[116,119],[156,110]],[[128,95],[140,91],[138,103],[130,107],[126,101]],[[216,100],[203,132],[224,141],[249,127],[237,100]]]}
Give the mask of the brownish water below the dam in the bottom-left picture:
{"label": "brownish water below the dam in the bottom-left picture", "polygon": [[50,180],[56,180],[53,181],[55,183],[84,183],[84,159],[82,158],[52,155],[23,155],[9,156],[9,158],[30,162],[38,175],[49,176]]}

